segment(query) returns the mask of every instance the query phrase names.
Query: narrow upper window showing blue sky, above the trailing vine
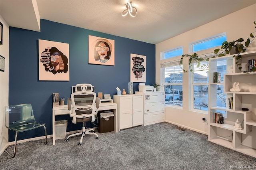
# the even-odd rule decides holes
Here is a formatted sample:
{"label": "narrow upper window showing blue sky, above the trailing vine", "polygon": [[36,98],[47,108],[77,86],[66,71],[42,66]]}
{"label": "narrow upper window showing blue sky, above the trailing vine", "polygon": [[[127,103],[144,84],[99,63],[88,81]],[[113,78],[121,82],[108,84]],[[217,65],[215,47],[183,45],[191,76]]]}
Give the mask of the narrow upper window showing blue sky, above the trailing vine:
{"label": "narrow upper window showing blue sky, above the trailing vine", "polygon": [[196,52],[203,49],[217,47],[219,45],[222,45],[222,42],[224,41],[226,41],[226,33],[218,34],[216,36],[199,40],[199,41],[190,43],[190,52]]}

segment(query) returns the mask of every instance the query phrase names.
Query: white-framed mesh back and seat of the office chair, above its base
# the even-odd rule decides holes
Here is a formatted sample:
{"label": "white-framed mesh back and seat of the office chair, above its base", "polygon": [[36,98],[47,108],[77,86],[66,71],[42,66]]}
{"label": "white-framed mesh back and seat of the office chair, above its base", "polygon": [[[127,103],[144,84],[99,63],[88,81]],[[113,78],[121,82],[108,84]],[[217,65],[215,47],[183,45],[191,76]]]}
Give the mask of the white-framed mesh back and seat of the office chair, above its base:
{"label": "white-framed mesh back and seat of the office chair, above its base", "polygon": [[[96,93],[92,92],[91,84],[76,85],[76,92],[71,94],[73,109],[69,109],[72,123],[95,121],[98,110],[94,107],[96,98]],[[71,103],[68,102],[68,108],[71,108]]]}

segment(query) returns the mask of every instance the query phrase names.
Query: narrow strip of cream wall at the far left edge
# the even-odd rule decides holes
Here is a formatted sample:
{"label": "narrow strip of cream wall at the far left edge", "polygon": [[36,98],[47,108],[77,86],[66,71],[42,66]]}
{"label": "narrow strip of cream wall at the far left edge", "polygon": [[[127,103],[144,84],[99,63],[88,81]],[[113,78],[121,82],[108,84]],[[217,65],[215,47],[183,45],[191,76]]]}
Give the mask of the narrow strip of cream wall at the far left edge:
{"label": "narrow strip of cream wall at the far left edge", "polygon": [[0,155],[8,146],[8,129],[5,127],[5,106],[8,105],[9,93],[9,26],[0,16],[3,24],[3,45],[0,45],[0,55],[5,58],[4,72],[0,71]]}

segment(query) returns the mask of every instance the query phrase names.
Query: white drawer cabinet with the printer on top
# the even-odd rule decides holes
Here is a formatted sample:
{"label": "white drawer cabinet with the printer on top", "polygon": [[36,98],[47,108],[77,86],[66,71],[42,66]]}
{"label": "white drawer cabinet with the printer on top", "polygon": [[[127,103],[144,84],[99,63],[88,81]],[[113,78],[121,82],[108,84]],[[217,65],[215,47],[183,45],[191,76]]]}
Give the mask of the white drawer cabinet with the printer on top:
{"label": "white drawer cabinet with the printer on top", "polygon": [[144,97],[144,126],[165,121],[164,92],[140,92]]}

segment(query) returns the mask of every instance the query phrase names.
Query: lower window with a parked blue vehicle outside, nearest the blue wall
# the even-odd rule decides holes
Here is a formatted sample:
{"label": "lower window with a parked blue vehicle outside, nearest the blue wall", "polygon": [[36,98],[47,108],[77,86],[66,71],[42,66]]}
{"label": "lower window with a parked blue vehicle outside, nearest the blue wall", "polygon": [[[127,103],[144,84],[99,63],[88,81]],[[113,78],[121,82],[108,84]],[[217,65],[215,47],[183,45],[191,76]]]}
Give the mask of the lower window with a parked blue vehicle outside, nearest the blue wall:
{"label": "lower window with a parked blue vehicle outside, nearest the blue wall", "polygon": [[161,64],[164,75],[165,104],[167,106],[183,106],[182,81],[183,72],[178,61]]}

